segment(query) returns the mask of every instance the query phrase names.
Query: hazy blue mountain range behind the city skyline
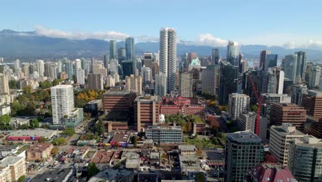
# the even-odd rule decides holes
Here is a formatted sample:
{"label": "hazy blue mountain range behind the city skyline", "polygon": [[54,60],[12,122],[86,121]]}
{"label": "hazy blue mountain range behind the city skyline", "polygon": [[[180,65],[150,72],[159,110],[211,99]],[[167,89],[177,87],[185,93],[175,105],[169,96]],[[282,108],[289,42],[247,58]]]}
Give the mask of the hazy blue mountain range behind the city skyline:
{"label": "hazy blue mountain range behind the city skyline", "polygon": [[[124,42],[118,42],[117,47],[124,47]],[[184,52],[197,52],[199,56],[210,56],[213,47],[206,45],[188,45],[178,43],[178,55]],[[102,57],[107,54],[109,43],[103,40],[86,39],[72,40],[39,36],[36,32],[16,32],[14,30],[0,31],[0,57],[8,59],[23,58],[61,58]],[[135,45],[136,54],[158,52],[158,42],[139,42]],[[299,49],[286,49],[279,46],[241,45],[241,52],[248,59],[258,59],[261,50],[271,50],[273,54],[284,57]],[[321,50],[300,49],[308,52],[308,59],[322,59]],[[226,56],[226,47],[220,47],[222,57]]]}

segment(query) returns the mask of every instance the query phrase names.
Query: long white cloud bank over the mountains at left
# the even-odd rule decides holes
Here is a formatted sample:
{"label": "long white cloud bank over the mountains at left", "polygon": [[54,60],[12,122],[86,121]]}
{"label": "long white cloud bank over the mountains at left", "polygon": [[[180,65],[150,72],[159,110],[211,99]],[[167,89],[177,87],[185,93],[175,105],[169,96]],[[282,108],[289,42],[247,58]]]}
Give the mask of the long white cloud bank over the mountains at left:
{"label": "long white cloud bank over the mountains at left", "polygon": [[55,29],[47,29],[43,26],[36,26],[35,27],[36,34],[45,36],[45,37],[55,37],[55,38],[65,38],[65,39],[116,39],[116,40],[124,40],[125,38],[129,37],[129,35],[121,33],[121,32],[64,32],[62,30],[55,30]]}

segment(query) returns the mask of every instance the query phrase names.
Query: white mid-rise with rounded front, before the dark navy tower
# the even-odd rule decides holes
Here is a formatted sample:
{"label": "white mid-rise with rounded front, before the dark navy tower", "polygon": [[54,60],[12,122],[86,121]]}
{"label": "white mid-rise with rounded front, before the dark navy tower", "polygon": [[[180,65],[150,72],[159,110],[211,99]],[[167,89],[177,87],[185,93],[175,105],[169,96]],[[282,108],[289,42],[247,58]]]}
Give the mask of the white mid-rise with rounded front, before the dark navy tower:
{"label": "white mid-rise with rounded front, before the dark navy tower", "polygon": [[249,110],[249,96],[246,94],[229,94],[228,101],[228,118],[236,121],[239,114],[248,112]]}

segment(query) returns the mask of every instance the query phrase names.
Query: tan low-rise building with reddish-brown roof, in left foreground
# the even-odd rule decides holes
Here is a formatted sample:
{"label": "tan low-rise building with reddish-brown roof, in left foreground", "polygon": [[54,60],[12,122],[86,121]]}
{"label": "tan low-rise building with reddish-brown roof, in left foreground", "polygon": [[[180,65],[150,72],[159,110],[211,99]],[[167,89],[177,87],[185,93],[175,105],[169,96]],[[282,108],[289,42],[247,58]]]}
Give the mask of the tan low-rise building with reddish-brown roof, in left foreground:
{"label": "tan low-rise building with reddish-brown roof, in left foreground", "polygon": [[27,161],[45,161],[49,158],[54,145],[52,143],[34,143],[26,151]]}

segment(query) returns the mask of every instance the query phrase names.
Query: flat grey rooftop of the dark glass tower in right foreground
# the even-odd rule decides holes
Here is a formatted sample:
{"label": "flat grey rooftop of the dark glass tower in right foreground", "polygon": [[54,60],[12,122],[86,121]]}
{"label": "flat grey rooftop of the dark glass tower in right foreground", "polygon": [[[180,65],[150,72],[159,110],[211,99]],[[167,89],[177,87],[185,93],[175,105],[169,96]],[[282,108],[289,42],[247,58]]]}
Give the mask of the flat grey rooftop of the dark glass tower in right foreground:
{"label": "flat grey rooftop of the dark glass tower in right foreground", "polygon": [[261,139],[250,130],[228,133],[227,138],[237,142],[261,142]]}

